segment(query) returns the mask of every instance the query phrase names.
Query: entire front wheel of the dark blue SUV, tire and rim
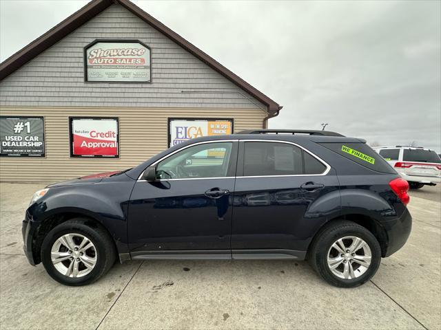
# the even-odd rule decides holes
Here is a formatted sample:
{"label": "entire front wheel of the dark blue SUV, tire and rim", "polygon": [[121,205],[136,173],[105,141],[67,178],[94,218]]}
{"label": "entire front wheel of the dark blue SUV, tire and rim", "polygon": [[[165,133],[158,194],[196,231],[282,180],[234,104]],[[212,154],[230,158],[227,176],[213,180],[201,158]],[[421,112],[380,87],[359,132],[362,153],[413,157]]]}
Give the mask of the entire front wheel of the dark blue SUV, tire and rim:
{"label": "entire front wheel of the dark blue SUV, tire and rim", "polygon": [[116,258],[107,232],[73,219],[53,228],[41,245],[41,261],[55,281],[65,285],[86,285],[98,280]]}

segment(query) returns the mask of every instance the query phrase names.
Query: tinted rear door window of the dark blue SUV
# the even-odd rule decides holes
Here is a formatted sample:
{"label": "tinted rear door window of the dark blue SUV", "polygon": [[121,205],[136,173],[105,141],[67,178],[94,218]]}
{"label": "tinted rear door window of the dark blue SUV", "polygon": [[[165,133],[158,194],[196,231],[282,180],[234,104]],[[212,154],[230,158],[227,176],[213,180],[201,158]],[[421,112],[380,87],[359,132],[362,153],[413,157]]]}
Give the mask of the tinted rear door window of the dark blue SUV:
{"label": "tinted rear door window of the dark blue SUV", "polygon": [[245,142],[243,175],[317,175],[326,166],[298,146],[280,142]]}

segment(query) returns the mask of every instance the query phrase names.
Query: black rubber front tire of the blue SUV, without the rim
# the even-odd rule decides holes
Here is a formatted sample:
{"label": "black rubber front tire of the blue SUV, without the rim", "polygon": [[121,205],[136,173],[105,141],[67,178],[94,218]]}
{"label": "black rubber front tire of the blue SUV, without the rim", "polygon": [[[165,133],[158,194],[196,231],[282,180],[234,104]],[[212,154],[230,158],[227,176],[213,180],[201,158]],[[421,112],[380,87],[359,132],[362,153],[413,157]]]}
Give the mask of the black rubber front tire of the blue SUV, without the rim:
{"label": "black rubber front tire of the blue SUV, without the rim", "polygon": [[[76,218],[57,225],[45,236],[41,245],[41,261],[46,272],[61,284],[79,286],[93,283],[110,270],[116,259],[116,247],[107,231],[99,225],[92,228],[85,224],[86,221],[86,219]],[[51,259],[52,245],[65,234],[81,234],[94,244],[97,254],[96,264],[89,274],[73,278],[61,274],[54,267]]]}

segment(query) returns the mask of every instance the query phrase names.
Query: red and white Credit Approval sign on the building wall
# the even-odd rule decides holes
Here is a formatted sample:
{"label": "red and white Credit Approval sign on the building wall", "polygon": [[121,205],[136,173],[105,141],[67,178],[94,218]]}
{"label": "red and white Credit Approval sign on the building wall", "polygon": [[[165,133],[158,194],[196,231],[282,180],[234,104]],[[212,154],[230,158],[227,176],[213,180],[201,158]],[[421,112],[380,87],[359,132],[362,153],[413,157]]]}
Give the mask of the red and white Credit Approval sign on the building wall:
{"label": "red and white Credit Approval sign on the building wall", "polygon": [[118,157],[118,118],[70,118],[72,157]]}

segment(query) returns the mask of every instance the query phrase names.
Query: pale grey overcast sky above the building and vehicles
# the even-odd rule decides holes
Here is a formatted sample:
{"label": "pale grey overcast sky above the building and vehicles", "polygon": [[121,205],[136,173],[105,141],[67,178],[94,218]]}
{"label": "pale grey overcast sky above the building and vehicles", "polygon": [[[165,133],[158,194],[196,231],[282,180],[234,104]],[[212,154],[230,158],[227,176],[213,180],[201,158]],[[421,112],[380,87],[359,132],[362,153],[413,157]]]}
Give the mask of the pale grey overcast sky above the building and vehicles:
{"label": "pale grey overcast sky above the building and vehicles", "polygon": [[[87,2],[0,0],[1,61]],[[441,151],[441,1],[134,3],[283,105],[270,128]]]}

